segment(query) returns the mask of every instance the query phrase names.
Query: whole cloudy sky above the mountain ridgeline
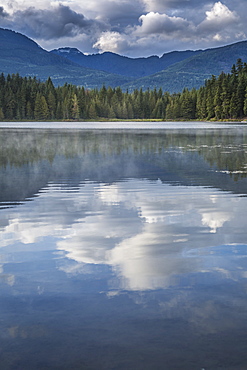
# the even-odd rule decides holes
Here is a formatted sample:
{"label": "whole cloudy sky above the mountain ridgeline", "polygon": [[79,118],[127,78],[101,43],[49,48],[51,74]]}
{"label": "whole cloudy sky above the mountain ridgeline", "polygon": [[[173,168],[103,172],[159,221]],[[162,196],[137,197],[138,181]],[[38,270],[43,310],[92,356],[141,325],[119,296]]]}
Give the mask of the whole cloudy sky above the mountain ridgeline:
{"label": "whole cloudy sky above the mountain ridgeline", "polygon": [[246,0],[2,0],[0,27],[46,50],[76,47],[129,57],[246,39]]}

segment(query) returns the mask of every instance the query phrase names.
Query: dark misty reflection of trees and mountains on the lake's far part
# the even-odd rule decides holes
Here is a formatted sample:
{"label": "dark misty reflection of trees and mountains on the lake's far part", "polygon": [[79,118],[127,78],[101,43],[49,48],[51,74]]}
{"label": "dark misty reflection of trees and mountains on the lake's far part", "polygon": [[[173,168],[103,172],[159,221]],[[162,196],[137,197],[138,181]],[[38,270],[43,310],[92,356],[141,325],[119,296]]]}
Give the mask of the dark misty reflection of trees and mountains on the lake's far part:
{"label": "dark misty reflection of trees and mountains on the lake's far part", "polygon": [[[114,182],[159,178],[243,192],[243,184],[241,189],[235,189],[228,182],[241,183],[239,180],[247,174],[246,163],[246,133],[237,128],[146,132],[0,130],[2,186],[10,188],[15,181],[22,183],[26,175],[23,187],[31,186],[27,182],[36,183],[31,193],[57,178],[70,179],[75,184],[85,179]],[[7,183],[6,171],[12,171]]]}

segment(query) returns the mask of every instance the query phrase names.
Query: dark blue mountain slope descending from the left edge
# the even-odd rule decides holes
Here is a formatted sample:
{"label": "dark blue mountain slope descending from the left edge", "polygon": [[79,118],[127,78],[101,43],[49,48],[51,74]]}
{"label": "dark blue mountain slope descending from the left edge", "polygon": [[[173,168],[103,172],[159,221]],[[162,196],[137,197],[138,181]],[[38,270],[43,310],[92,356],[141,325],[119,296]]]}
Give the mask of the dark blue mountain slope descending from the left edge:
{"label": "dark blue mountain slope descending from the left edge", "polygon": [[59,55],[49,53],[28,37],[0,28],[0,72],[37,76],[40,80],[51,77],[55,85],[71,83],[95,88],[119,86],[127,77],[82,67]]}

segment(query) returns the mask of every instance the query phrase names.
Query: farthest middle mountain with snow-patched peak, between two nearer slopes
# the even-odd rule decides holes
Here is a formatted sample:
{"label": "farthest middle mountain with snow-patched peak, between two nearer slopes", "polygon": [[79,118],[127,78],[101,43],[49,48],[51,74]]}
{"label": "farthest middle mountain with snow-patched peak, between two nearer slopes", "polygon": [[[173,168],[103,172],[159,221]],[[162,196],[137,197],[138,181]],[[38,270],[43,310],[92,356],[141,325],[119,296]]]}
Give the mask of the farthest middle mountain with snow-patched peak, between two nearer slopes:
{"label": "farthest middle mountain with snow-patched peak, between two nearer slopes", "polygon": [[173,51],[164,54],[161,58],[128,58],[122,55],[105,52],[102,54],[85,55],[76,48],[59,48],[51,51],[52,54],[62,56],[83,67],[115,73],[122,76],[140,78],[162,71],[174,63],[178,63],[191,56],[200,54],[201,50]]}

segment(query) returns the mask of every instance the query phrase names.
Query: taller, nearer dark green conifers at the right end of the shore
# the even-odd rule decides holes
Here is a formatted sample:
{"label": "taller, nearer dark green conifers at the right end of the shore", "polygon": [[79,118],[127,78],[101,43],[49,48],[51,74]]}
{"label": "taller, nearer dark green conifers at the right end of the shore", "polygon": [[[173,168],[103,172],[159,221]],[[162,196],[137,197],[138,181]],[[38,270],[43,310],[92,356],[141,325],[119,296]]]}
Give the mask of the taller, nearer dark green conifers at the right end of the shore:
{"label": "taller, nearer dark green conifers at the right end of the shore", "polygon": [[[237,67],[236,67],[237,65]],[[199,90],[185,89],[170,97],[166,118],[238,119],[247,114],[247,68],[239,58],[231,74],[212,76]],[[179,97],[179,106],[177,104]]]}

